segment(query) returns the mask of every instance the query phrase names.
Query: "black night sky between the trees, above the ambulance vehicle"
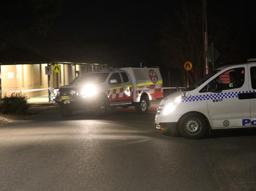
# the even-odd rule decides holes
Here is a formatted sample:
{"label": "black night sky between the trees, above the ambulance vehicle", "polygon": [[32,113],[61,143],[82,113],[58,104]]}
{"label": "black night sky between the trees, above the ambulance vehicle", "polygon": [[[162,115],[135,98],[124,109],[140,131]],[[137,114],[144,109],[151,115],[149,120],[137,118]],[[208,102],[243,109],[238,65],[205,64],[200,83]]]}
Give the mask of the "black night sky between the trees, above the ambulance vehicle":
{"label": "black night sky between the trees, above the ambulance vehicle", "polygon": [[[135,64],[142,61],[154,65],[160,60],[155,44],[168,18],[166,15],[174,16],[183,5],[194,4],[200,5],[201,1],[97,3],[64,0],[62,15],[53,29],[82,45],[104,44],[102,51],[108,55],[107,62]],[[239,32],[255,24],[255,5],[252,0],[207,1],[208,14],[223,16],[224,20],[229,20],[234,31]]]}

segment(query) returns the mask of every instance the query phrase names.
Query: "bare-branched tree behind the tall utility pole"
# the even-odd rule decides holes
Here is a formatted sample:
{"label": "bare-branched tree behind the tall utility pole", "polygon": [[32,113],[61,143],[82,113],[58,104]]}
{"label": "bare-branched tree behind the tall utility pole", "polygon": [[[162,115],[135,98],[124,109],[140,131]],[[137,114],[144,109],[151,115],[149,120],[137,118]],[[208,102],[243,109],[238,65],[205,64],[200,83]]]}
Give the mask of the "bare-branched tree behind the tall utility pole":
{"label": "bare-branched tree behind the tall utility pole", "polygon": [[[184,62],[190,61],[193,68],[188,72],[191,83],[199,80],[204,71],[202,46],[202,16],[201,6],[183,6],[174,16],[167,16],[161,31],[162,35],[157,44],[164,54],[165,65],[179,69],[184,85],[186,84],[186,71]],[[214,42],[220,52],[215,66],[234,64],[241,58],[238,35],[230,31],[229,22],[221,16],[208,15],[208,40]],[[209,63],[209,67],[211,64]]]}

